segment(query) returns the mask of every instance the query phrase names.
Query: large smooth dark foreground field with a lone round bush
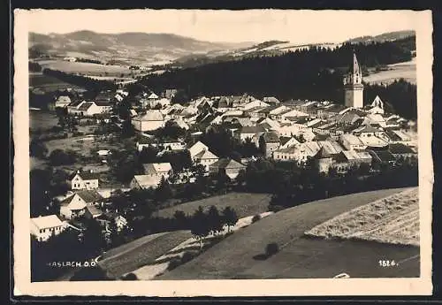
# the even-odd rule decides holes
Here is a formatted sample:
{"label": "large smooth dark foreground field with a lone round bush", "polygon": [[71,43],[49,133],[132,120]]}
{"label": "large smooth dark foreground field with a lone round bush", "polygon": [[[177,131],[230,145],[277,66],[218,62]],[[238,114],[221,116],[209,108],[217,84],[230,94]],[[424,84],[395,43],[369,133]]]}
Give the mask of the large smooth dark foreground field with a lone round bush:
{"label": "large smooth dark foreground field with a lone round bush", "polygon": [[[352,278],[418,277],[419,248],[304,235],[332,217],[403,190],[349,194],[281,210],[156,279],[332,278],[341,272]],[[278,254],[263,257],[271,242],[278,244]],[[385,269],[381,259],[401,264]]]}

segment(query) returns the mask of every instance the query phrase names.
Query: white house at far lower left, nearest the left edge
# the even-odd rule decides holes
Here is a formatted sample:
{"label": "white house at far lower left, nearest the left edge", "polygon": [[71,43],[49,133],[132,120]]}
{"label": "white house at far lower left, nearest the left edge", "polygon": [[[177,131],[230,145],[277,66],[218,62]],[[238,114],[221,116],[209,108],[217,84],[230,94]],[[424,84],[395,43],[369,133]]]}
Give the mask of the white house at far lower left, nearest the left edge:
{"label": "white house at far lower left, nearest the left edge", "polygon": [[66,223],[57,215],[31,218],[31,234],[39,241],[49,240],[52,235],[65,231]]}

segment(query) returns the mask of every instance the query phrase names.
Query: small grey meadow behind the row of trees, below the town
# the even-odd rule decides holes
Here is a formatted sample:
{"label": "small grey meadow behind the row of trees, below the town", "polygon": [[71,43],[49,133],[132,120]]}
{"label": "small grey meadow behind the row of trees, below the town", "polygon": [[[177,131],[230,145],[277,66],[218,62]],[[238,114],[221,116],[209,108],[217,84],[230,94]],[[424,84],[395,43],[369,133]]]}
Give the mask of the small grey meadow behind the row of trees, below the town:
{"label": "small grey meadow behind the row of trees, below the town", "polygon": [[237,212],[238,217],[248,217],[266,212],[270,201],[271,194],[230,193],[159,210],[158,216],[171,218],[177,210],[182,210],[187,215],[193,215],[200,205],[206,211],[211,205],[214,205],[220,211],[230,206]]}

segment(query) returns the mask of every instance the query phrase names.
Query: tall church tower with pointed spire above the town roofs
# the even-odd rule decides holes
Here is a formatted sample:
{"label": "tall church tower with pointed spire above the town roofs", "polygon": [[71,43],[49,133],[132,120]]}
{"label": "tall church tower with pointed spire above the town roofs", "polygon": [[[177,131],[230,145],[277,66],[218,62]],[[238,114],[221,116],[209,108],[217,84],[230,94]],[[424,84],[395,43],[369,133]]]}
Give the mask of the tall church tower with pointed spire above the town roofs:
{"label": "tall church tower with pointed spire above the town roofs", "polygon": [[354,53],[353,63],[344,77],[344,92],[346,107],[363,107],[362,71]]}

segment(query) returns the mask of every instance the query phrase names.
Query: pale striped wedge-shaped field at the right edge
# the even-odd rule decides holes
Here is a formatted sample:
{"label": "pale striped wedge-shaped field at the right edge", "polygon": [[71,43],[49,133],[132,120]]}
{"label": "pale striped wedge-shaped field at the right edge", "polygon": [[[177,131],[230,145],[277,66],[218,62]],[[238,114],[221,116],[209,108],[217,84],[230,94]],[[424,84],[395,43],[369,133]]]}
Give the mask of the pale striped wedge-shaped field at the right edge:
{"label": "pale striped wedge-shaped field at the right edge", "polygon": [[417,187],[334,217],[306,233],[419,247]]}

